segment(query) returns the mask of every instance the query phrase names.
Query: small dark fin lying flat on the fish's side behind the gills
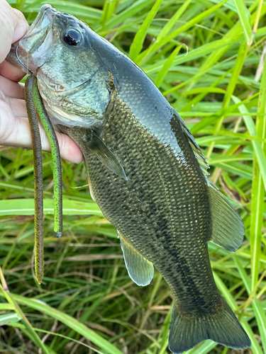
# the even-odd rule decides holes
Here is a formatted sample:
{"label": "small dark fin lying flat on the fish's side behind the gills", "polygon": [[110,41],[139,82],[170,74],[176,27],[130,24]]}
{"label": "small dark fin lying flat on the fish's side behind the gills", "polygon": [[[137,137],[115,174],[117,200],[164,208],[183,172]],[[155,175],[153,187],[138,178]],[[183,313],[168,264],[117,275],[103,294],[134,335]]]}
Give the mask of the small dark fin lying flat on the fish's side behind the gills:
{"label": "small dark fin lying flat on the fish's side behind the gills", "polygon": [[109,148],[106,147],[106,144],[104,144],[104,142],[93,131],[89,149],[98,157],[107,169],[128,181],[126,173],[118,159],[116,159],[116,156],[114,156]]}

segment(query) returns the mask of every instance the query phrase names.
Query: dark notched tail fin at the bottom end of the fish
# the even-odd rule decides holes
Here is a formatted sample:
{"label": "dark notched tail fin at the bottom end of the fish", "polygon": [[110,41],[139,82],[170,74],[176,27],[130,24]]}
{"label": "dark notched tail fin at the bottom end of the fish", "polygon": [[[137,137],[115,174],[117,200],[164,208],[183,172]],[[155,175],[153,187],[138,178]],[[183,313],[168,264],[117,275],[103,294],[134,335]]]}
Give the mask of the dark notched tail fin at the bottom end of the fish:
{"label": "dark notched tail fin at the bottom end of the fish", "polygon": [[234,349],[250,348],[251,342],[235,314],[223,299],[223,311],[209,316],[185,316],[174,306],[169,349],[174,354],[194,348],[205,339]]}

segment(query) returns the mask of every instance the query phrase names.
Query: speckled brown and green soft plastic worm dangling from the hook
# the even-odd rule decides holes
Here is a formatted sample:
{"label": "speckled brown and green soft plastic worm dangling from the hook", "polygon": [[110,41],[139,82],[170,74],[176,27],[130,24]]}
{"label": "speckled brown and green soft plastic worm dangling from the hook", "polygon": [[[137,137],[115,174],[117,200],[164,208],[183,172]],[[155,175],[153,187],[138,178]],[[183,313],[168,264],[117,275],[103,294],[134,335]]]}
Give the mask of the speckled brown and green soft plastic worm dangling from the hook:
{"label": "speckled brown and green soft plastic worm dangling from the hook", "polygon": [[[16,47],[16,56],[18,47]],[[18,58],[18,61],[21,60]],[[25,64],[21,64],[26,67]],[[28,67],[26,67],[28,69]],[[31,72],[31,69],[28,69]],[[60,150],[52,122],[46,113],[43,100],[38,91],[37,79],[31,72],[25,84],[25,101],[28,120],[31,127],[33,141],[33,164],[34,164],[34,203],[35,203],[35,275],[40,284],[43,280],[43,163],[40,130],[36,110],[40,117],[46,135],[50,143],[52,154],[52,171],[54,178],[55,219],[54,231],[56,237],[62,236],[62,174],[60,162]]]}

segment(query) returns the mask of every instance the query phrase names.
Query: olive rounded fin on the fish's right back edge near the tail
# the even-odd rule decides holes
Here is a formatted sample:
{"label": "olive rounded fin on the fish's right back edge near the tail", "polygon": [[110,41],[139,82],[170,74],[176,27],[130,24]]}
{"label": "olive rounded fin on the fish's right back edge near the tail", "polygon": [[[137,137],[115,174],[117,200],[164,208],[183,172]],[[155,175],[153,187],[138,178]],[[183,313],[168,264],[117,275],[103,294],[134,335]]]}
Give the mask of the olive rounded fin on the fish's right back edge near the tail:
{"label": "olive rounded fin on the fish's right back edge near the tail", "polygon": [[212,234],[210,241],[218,246],[235,252],[242,244],[245,227],[233,205],[208,181],[211,203]]}

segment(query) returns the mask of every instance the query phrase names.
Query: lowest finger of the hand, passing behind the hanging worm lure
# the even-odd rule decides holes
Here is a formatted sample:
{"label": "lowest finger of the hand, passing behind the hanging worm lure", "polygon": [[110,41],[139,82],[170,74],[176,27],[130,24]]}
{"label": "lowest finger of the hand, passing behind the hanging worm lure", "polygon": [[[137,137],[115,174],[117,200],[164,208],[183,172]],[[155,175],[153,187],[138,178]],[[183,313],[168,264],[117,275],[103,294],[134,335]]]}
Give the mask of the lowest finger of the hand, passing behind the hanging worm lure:
{"label": "lowest finger of the hand, passing behind the hanging worm lure", "polygon": [[[56,135],[62,159],[80,164],[82,162],[82,152],[77,144],[65,134],[56,132]],[[48,137],[43,126],[40,126],[40,138],[42,149],[50,152]],[[0,144],[32,149],[31,129],[28,124],[28,118],[16,118],[9,105],[3,101],[0,101]]]}

